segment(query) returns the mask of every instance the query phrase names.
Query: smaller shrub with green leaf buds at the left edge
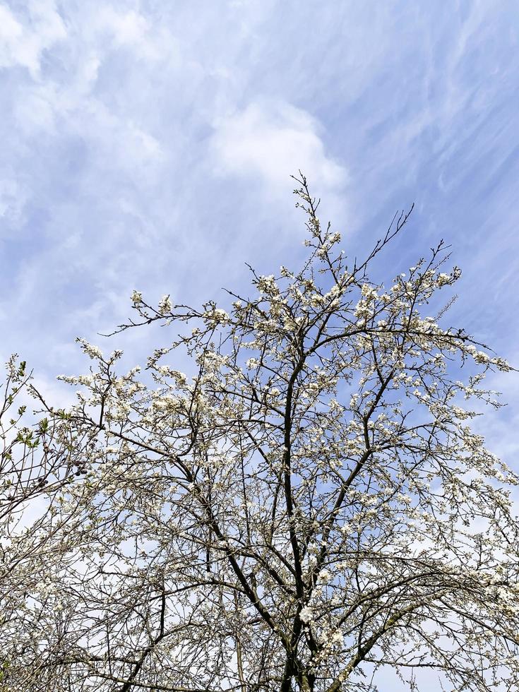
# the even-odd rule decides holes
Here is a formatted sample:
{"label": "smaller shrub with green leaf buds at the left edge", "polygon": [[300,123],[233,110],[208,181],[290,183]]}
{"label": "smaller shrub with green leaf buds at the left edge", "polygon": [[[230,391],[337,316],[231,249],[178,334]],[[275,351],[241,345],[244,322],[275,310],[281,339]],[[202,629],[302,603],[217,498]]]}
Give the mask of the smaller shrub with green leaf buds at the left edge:
{"label": "smaller shrub with green leaf buds at the left edge", "polygon": [[[35,417],[32,373],[13,355],[0,385],[0,612],[1,681],[11,665],[6,638],[26,628],[25,607],[37,583],[44,583],[57,527],[49,525],[49,508],[64,484],[71,482],[70,431],[59,417]],[[68,452],[67,452],[68,451]]]}

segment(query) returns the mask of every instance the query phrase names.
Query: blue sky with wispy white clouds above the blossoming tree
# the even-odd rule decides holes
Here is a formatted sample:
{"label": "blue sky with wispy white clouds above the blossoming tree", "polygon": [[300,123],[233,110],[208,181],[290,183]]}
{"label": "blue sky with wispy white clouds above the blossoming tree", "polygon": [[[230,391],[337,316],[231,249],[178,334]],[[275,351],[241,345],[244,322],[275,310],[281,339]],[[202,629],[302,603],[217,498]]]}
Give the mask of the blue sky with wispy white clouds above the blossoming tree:
{"label": "blue sky with wispy white clouds above the blossoming tree", "polygon": [[[381,275],[445,239],[451,321],[519,364],[518,32],[515,0],[0,1],[0,356],[59,395],[133,288],[200,302],[297,265],[300,168],[352,254],[414,202]],[[518,378],[495,384],[514,463]]]}

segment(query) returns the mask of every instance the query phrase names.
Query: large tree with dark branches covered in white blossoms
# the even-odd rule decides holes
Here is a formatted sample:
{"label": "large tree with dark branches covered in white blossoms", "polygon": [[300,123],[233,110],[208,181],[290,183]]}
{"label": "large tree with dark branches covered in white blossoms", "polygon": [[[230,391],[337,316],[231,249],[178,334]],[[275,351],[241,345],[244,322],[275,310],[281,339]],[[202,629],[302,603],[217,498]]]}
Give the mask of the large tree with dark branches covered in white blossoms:
{"label": "large tree with dark branches covered in white blossoms", "polygon": [[348,264],[297,185],[301,270],[253,273],[228,313],[134,292],[121,330],[180,332],[142,373],[81,342],[77,404],[46,411],[67,482],[6,689],[374,691],[388,668],[517,688],[518,479],[462,405],[497,406],[482,380],[511,368],[427,314],[460,274],[443,243],[384,289],[369,266],[408,215]]}

